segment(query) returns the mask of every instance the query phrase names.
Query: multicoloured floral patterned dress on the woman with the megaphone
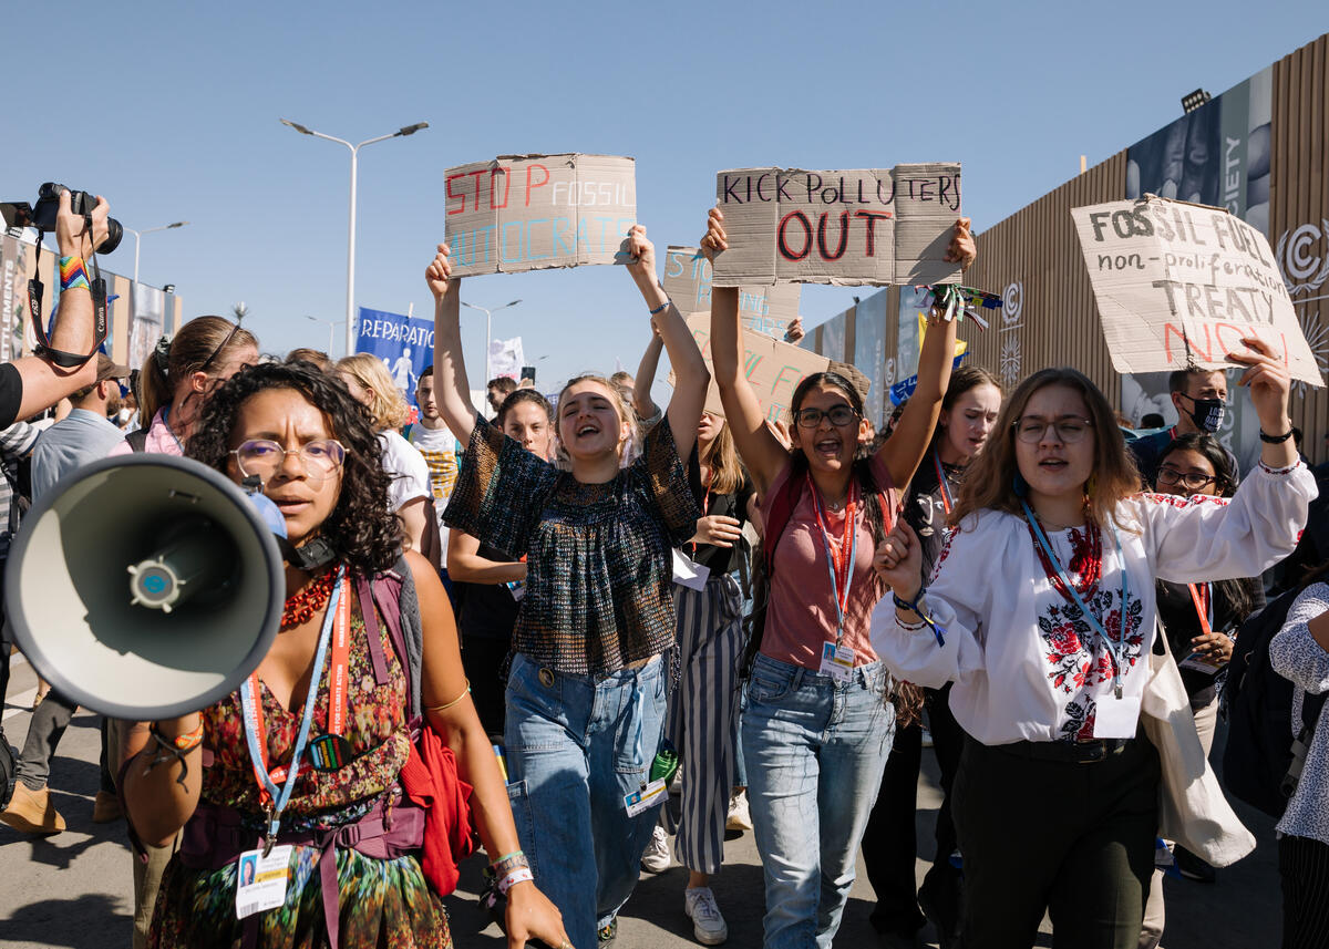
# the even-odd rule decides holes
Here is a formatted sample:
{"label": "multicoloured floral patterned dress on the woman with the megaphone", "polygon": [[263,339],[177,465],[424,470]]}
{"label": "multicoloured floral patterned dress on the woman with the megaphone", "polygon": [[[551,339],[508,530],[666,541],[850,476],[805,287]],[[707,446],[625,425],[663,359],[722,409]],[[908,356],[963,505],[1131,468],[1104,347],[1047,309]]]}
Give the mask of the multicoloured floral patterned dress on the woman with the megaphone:
{"label": "multicoloured floral patterned dress on the woman with the megaphone", "polygon": [[[368,634],[359,605],[352,609],[350,704],[346,738],[354,760],[334,774],[302,767],[282,829],[342,827],[395,797],[397,772],[407,760],[407,675],[393,651],[387,626],[379,622],[388,677],[377,685]],[[311,736],[326,734],[328,720],[328,662],[320,671]],[[303,703],[286,710],[263,686],[259,691],[271,767],[288,764],[300,726]],[[234,808],[242,821],[262,827],[258,783],[245,740],[239,694],[233,692],[203,711],[205,758],[202,797]],[[429,889],[416,856],[376,860],[359,851],[336,848],[340,892],[339,942],[343,946],[388,949],[451,949],[452,936],[443,900]],[[259,913],[258,946],[319,949],[328,945],[316,847],[291,852],[286,904]],[[162,879],[153,913],[149,945],[155,949],[241,949],[245,920],[235,918],[237,861],[221,869],[193,869],[179,855]]]}

